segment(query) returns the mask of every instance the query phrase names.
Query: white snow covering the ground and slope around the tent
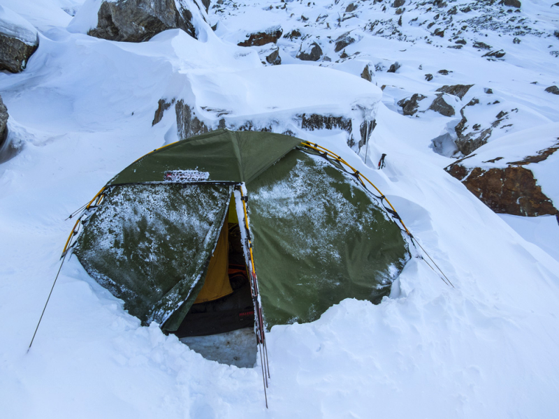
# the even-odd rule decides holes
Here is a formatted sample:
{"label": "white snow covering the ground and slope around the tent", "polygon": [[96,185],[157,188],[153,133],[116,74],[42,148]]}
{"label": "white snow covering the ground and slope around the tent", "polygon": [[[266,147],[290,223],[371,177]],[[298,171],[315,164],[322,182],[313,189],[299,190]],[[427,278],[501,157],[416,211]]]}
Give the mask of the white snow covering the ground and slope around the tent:
{"label": "white snow covering the ground and slope around the tent", "polygon": [[[543,3],[524,1],[525,13],[544,10]],[[122,309],[122,302],[89,278],[75,258],[61,271],[29,353],[27,346],[73,226],[72,220],[64,221],[66,216],[131,161],[176,135],[174,112],[152,126],[160,98],[188,91],[218,103],[225,97],[223,90],[208,83],[223,86],[220,73],[245,72],[257,75],[247,78],[249,82],[266,84],[265,71],[283,71],[288,87],[281,89],[270,78],[274,96],[237,105],[232,101],[231,109],[239,115],[262,115],[273,99],[273,105],[289,108],[290,103],[301,103],[312,111],[335,97],[319,94],[353,86],[342,91],[346,106],[363,91],[378,97],[370,83],[367,86],[373,89],[361,89],[364,81],[358,79],[357,68],[361,64],[335,66],[331,61],[328,66],[354,74],[356,80],[327,87],[349,75],[336,78],[333,70],[317,69],[316,84],[298,96],[293,91],[304,80],[298,78],[298,66],[287,62],[283,70],[265,69],[258,50],[238,53],[240,47],[226,35],[240,30],[235,29],[234,15],[224,23],[231,28],[224,32],[225,41],[211,31],[201,41],[167,31],[147,43],[127,44],[68,32],[71,16],[63,17],[61,8],[78,7],[78,1],[0,0],[0,4],[41,31],[40,46],[26,70],[0,73],[0,94],[10,113],[10,141],[21,147],[13,159],[0,164],[1,416],[556,417],[558,260],[515,233],[444,172],[454,160],[430,146],[451,118],[427,113],[406,117],[395,105],[401,90],[434,90],[423,74],[447,68],[454,73],[436,76],[437,87],[471,80],[523,103],[526,112],[537,113],[539,119],[518,117],[519,126],[558,122],[558,96],[543,92],[557,74],[552,65],[556,57],[543,45],[557,45],[556,39],[527,35],[527,40],[532,36],[529,42],[511,44],[518,47],[519,57],[539,54],[539,61],[530,59],[520,66],[516,61],[487,61],[477,51],[363,36],[358,59],[369,56],[363,65],[377,64],[377,59],[402,64],[398,73],[375,75],[377,84],[387,87],[377,106],[377,127],[369,147],[357,155],[339,131],[296,133],[333,149],[371,179],[456,288],[414,258],[382,304],[344,300],[314,323],[275,326],[267,335],[272,378],[266,410],[259,366],[220,365],[203,359],[176,337],[164,336],[157,325],[140,327],[138,319]],[[266,5],[259,7],[258,12],[254,6],[254,12],[239,15],[238,27],[248,28],[246,22],[268,27],[263,20],[270,19],[287,28],[291,22],[289,14],[278,17],[273,12],[268,17],[269,10],[262,9]],[[320,7],[326,6],[307,10],[314,16],[321,13]],[[554,15],[546,16],[551,17],[543,20],[542,30],[549,31],[557,23]],[[361,20],[368,20],[365,12]],[[493,40],[499,37],[488,34],[497,44]],[[543,52],[528,46],[520,49],[530,43]],[[296,53],[294,47],[292,52]],[[500,75],[497,81],[495,72]],[[530,84],[535,78],[542,84]],[[212,89],[216,96],[208,93]],[[504,135],[501,139],[506,140]],[[388,154],[387,166],[375,170],[382,153]]]}

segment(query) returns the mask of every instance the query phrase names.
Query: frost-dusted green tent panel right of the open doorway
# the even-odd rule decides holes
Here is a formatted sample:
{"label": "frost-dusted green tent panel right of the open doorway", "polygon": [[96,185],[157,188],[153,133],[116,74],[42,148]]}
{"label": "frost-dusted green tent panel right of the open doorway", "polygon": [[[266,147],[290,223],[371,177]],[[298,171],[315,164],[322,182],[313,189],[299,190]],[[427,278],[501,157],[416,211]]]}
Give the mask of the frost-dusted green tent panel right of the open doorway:
{"label": "frost-dusted green tent panel right of the open doorway", "polygon": [[400,229],[360,186],[300,151],[247,184],[268,328],[314,321],[354,297],[378,303],[409,259]]}

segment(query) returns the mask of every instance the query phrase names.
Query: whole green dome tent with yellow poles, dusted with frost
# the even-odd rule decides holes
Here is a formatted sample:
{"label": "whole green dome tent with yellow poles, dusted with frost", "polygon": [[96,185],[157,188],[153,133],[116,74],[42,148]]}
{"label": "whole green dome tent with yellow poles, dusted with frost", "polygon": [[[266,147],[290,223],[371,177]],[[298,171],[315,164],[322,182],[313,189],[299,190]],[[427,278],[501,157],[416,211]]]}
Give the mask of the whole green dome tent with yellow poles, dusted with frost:
{"label": "whole green dome tent with yellow poles, dusted with frost", "polygon": [[226,130],[157,149],[108,182],[68,249],[130,314],[179,337],[256,322],[262,340],[347,297],[377,303],[407,242],[358,172],[317,149]]}

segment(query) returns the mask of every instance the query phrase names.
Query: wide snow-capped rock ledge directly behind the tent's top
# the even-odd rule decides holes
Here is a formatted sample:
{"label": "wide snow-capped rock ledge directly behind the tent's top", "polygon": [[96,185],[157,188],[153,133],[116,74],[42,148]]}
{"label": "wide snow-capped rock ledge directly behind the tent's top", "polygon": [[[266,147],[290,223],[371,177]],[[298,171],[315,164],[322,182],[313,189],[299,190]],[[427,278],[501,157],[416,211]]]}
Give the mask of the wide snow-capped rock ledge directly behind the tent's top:
{"label": "wide snow-capped rock ledge directly behind the tent's top", "polygon": [[[341,131],[358,150],[368,139],[381,91],[370,82],[330,68],[266,66],[236,73],[189,74],[175,103],[178,138],[217,128]],[[165,103],[165,102],[164,102]],[[161,101],[156,119],[161,113]]]}

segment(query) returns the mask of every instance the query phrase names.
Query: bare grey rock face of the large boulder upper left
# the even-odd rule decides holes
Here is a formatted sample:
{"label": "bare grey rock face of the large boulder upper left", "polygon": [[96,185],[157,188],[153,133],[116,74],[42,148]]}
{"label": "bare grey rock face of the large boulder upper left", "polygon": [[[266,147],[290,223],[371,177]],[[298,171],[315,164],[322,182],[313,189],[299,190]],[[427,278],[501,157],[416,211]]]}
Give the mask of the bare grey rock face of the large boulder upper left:
{"label": "bare grey rock face of the large boulder upper left", "polygon": [[110,41],[143,42],[167,29],[182,29],[196,38],[192,13],[184,6],[177,9],[175,0],[103,0],[97,27],[87,34]]}

